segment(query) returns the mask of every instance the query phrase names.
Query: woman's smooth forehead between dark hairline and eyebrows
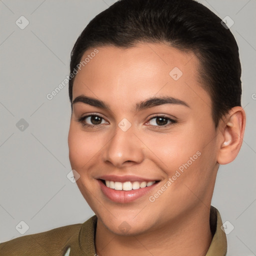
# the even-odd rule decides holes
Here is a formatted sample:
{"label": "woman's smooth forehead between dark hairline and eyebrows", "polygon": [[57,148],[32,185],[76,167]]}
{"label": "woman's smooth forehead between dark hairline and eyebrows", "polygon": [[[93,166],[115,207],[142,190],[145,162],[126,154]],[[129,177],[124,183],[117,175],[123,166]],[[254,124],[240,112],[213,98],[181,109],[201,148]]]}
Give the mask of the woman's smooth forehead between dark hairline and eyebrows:
{"label": "woman's smooth forehead between dark hairline and eyebrows", "polygon": [[[141,43],[134,47],[96,47],[81,58],[86,64],[76,74],[73,99],[81,94],[109,104],[131,104],[155,95],[170,95],[188,104],[209,101],[199,83],[199,61],[191,51],[164,43]],[[92,54],[93,53],[93,54]],[[190,101],[190,103],[189,103]]]}

